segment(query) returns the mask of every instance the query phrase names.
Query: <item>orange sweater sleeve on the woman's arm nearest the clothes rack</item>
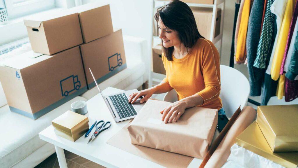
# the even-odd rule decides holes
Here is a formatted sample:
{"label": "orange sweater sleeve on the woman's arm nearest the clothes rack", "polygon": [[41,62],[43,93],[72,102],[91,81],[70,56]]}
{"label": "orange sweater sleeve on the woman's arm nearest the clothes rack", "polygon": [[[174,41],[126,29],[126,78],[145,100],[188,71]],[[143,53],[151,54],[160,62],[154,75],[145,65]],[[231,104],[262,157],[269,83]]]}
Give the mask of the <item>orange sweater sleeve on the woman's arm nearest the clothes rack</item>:
{"label": "orange sweater sleeve on the woman's arm nearest the clothes rack", "polygon": [[207,42],[208,44],[203,49],[201,63],[205,88],[196,93],[203,98],[203,104],[218,98],[221,91],[219,54],[215,46],[211,42]]}

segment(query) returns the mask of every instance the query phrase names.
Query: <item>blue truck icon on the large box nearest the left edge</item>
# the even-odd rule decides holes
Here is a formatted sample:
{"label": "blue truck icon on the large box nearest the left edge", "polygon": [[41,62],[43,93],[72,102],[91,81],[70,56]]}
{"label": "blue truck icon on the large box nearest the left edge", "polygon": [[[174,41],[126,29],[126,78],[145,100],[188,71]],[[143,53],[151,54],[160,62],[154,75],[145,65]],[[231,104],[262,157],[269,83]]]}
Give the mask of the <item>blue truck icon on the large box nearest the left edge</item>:
{"label": "blue truck icon on the large box nearest the left edge", "polygon": [[68,94],[74,90],[79,90],[81,82],[78,80],[77,75],[71,75],[63,80],[60,80],[60,87],[62,96],[68,96]]}

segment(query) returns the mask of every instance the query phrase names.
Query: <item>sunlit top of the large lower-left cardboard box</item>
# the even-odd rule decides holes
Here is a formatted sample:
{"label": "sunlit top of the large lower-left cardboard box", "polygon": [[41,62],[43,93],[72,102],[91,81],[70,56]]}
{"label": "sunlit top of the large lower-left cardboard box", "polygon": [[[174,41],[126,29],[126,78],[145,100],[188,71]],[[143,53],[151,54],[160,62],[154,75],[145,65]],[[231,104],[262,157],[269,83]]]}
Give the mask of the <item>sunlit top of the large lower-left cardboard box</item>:
{"label": "sunlit top of the large lower-left cardboard box", "polygon": [[15,68],[15,69],[23,69],[30,65],[49,59],[51,57],[52,56],[49,56],[49,55],[28,51],[24,54],[20,54],[18,56],[14,56],[9,59],[5,59],[1,61],[0,64],[3,66]]}

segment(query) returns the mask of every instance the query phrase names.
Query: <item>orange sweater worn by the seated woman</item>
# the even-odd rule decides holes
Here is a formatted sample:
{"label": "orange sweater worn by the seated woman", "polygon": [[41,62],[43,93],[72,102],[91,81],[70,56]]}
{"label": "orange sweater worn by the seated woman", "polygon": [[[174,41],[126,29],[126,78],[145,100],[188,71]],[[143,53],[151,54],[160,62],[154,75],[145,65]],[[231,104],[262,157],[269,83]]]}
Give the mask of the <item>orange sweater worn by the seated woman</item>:
{"label": "orange sweater worn by the seated woman", "polygon": [[198,39],[190,54],[181,59],[173,56],[168,61],[162,54],[166,77],[164,82],[178,93],[178,100],[194,94],[204,103],[198,107],[221,109],[219,54],[215,45],[206,39]]}

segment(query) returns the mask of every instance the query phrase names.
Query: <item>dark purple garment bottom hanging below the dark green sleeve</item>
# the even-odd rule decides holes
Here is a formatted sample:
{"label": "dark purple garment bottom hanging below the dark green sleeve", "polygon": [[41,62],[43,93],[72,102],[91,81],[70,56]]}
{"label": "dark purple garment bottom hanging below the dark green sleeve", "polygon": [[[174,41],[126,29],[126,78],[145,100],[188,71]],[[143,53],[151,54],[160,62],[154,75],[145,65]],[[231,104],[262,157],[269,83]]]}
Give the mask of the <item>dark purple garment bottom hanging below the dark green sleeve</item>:
{"label": "dark purple garment bottom hanging below the dark green sleeve", "polygon": [[298,80],[285,78],[285,101],[290,102],[298,97]]}

